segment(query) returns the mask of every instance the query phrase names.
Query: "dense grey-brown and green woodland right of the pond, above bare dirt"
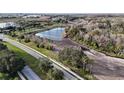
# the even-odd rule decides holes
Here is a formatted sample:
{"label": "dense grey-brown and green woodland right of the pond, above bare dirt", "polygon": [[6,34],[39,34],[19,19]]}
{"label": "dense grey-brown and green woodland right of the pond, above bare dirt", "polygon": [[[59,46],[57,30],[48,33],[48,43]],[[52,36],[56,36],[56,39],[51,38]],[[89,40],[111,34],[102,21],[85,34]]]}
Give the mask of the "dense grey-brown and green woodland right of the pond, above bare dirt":
{"label": "dense grey-brown and green woodland right of the pond, above bare dirt", "polygon": [[124,22],[115,17],[90,18],[66,28],[66,37],[108,55],[124,58]]}

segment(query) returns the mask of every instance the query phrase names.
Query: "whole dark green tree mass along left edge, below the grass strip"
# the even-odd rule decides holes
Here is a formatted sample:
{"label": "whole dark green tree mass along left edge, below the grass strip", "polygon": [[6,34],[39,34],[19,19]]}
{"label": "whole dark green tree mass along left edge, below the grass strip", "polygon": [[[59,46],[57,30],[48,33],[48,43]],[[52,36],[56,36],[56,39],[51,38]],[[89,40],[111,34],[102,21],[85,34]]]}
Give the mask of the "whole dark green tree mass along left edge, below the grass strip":
{"label": "whole dark green tree mass along left edge, below the grass strip", "polygon": [[25,61],[10,51],[8,47],[0,42],[0,78],[1,79],[19,79],[17,71],[21,71],[25,66]]}

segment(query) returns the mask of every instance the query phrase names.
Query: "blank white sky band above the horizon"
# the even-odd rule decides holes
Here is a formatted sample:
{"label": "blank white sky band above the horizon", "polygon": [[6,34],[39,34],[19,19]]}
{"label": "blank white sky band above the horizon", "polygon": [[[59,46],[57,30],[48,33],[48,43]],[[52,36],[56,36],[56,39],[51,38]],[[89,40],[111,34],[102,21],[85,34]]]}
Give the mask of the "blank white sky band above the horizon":
{"label": "blank white sky band above the horizon", "polygon": [[0,0],[0,13],[124,13],[123,0]]}

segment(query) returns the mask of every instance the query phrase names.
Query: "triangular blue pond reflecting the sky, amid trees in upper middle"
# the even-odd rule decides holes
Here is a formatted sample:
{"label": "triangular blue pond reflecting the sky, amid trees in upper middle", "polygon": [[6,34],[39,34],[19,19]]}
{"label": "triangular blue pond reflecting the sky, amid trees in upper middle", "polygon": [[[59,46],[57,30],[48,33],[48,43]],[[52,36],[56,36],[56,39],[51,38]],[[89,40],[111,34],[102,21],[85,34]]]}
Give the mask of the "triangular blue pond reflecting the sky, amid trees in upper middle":
{"label": "triangular blue pond reflecting the sky, amid trees in upper middle", "polygon": [[50,29],[44,32],[39,32],[36,34],[36,36],[42,37],[42,38],[47,38],[50,40],[56,40],[56,41],[61,41],[63,39],[63,32],[64,28],[54,28]]}

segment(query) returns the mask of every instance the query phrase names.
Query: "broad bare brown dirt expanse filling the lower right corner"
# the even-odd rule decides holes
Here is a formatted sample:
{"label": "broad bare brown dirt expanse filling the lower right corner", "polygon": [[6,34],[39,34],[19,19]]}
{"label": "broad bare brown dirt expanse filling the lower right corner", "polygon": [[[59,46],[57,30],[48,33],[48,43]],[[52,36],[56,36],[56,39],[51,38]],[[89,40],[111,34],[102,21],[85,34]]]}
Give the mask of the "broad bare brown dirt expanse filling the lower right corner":
{"label": "broad bare brown dirt expanse filling the lower right corner", "polygon": [[93,59],[91,71],[94,76],[100,80],[124,80],[124,59],[106,56],[96,52],[97,55],[89,51],[84,53]]}

